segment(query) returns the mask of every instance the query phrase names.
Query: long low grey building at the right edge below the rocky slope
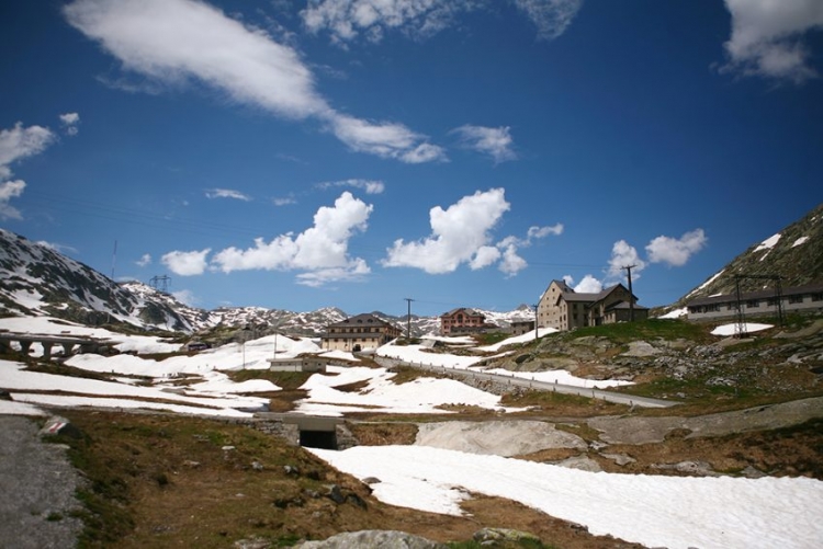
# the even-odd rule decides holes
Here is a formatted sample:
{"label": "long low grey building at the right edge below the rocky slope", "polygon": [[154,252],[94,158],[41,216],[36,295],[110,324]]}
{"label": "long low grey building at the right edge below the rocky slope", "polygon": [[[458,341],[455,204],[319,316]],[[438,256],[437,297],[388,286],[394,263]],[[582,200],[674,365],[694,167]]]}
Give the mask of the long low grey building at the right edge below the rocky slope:
{"label": "long low grey building at the right edge below the rocky slope", "polygon": [[[809,284],[775,289],[746,291],[740,295],[744,314],[774,314],[783,312],[823,311],[823,284]],[[778,307],[779,306],[779,307]],[[737,316],[737,295],[700,297],[686,304],[689,320],[720,320]]]}

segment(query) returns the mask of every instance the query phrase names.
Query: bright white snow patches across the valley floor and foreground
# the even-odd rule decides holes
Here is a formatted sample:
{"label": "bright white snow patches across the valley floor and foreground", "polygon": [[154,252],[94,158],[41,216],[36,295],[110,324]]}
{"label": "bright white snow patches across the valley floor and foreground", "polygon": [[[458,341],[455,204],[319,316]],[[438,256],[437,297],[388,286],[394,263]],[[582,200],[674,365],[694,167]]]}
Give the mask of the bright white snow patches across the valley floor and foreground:
{"label": "bright white snow patches across the valley floor and foreground", "polygon": [[[52,408],[90,405],[250,416],[267,402],[256,393],[279,388],[260,379],[233,382],[225,371],[266,369],[267,359],[275,353],[279,358],[323,353],[311,339],[267,336],[245,345],[233,343],[157,362],[140,354],[177,351],[180,345],[45,318],[0,319],[0,330],[108,338],[124,352],[109,357],[76,355],[67,361],[77,368],[106,374],[111,381],[27,371],[22,364],[0,362],[0,388],[12,397],[12,401],[0,400],[0,414],[30,416],[46,415],[46,409]],[[521,339],[534,336],[532,332]],[[499,345],[482,351],[505,353],[506,348]],[[481,359],[480,354],[475,358],[427,353],[422,346],[386,345],[376,353],[450,368],[471,368]],[[32,354],[42,354],[42,348],[32,345]],[[335,365],[326,374],[315,374],[306,381],[308,397],[298,403],[296,413],[340,415],[369,410],[442,414],[437,408],[442,404],[507,411],[500,407],[499,397],[459,381],[420,378],[396,385],[392,373],[358,364],[353,355],[334,352],[326,356]],[[575,378],[565,370],[540,376],[566,385],[593,386],[590,380]],[[181,378],[188,380],[185,387],[174,385]],[[364,382],[364,389],[336,389],[357,381]],[[582,524],[593,534],[609,534],[647,547],[816,548],[823,544],[823,482],[807,478],[753,480],[595,473],[420,445],[311,451],[358,478],[380,479],[372,488],[374,495],[386,503],[435,513],[461,514],[460,501],[470,497],[471,492],[508,497]]]}

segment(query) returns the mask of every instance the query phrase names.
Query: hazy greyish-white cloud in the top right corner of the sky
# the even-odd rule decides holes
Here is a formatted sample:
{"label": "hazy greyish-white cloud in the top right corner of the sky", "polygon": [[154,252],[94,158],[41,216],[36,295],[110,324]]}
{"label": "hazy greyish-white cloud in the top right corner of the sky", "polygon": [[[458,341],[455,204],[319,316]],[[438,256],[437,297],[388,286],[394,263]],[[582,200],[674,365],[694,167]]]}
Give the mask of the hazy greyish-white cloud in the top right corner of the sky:
{"label": "hazy greyish-white cloud in the top right corner of the sky", "polygon": [[820,0],[725,0],[732,35],[722,71],[801,83],[815,78],[802,35],[823,28]]}

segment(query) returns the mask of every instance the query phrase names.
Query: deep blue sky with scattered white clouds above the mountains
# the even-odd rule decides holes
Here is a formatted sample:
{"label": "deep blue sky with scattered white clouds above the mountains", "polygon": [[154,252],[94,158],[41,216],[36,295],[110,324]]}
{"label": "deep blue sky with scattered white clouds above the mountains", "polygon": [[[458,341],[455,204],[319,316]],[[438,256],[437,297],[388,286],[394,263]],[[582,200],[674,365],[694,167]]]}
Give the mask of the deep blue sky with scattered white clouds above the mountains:
{"label": "deep blue sky with scattered white clouds above the mountains", "polygon": [[[667,305],[823,202],[816,0],[0,4],[0,226],[212,309]],[[116,254],[115,254],[116,249]]]}

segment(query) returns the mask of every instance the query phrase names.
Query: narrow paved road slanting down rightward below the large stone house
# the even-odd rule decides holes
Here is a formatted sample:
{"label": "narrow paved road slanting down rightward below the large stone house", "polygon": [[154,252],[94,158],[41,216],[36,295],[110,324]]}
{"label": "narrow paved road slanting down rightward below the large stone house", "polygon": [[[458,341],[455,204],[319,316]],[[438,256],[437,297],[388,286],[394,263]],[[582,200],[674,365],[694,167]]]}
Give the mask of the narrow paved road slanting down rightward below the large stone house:
{"label": "narrow paved road slanting down rightward below the large stone house", "polygon": [[522,377],[515,376],[501,376],[498,374],[485,374],[477,370],[460,369],[460,368],[447,368],[444,366],[431,366],[428,364],[420,363],[408,363],[396,358],[387,358],[385,356],[376,356],[375,362],[383,367],[391,366],[412,366],[414,368],[422,368],[429,371],[438,371],[442,374],[456,375],[470,379],[481,379],[495,381],[498,384],[510,385],[512,387],[525,387],[528,389],[537,389],[542,391],[554,391],[562,392],[564,394],[578,394],[580,397],[588,397],[593,399],[600,399],[607,402],[616,402],[618,404],[638,405],[642,408],[669,408],[679,404],[679,402],[662,399],[652,399],[647,397],[636,397],[633,394],[624,394],[622,392],[608,391],[604,389],[587,389],[583,387],[575,387],[573,385],[562,384],[550,384],[545,381],[535,381],[532,379],[526,379]]}

